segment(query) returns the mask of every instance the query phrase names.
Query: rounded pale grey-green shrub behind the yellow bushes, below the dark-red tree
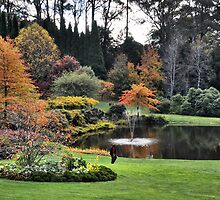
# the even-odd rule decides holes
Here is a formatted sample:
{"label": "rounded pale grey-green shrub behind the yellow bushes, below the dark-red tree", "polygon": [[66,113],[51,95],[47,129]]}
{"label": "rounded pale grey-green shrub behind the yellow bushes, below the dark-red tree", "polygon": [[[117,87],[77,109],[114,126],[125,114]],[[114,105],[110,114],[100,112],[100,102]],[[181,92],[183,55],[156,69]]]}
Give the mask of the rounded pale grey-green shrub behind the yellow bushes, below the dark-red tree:
{"label": "rounded pale grey-green shrub behind the yellow bushes, below the dark-red tree", "polygon": [[70,72],[58,77],[52,86],[55,96],[93,97],[99,88],[99,79],[87,73]]}

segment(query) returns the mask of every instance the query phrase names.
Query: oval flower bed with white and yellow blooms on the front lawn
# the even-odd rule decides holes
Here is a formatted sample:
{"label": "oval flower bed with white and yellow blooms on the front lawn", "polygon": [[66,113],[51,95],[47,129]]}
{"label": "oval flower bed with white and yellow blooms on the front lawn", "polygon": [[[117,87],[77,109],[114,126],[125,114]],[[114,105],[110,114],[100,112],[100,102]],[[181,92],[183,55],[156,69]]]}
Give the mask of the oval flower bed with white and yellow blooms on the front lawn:
{"label": "oval flower bed with white and yellow blooms on the front lawn", "polygon": [[61,161],[26,166],[18,163],[0,165],[0,177],[20,181],[94,182],[115,180],[117,174],[105,166],[86,163],[82,158],[67,155]]}

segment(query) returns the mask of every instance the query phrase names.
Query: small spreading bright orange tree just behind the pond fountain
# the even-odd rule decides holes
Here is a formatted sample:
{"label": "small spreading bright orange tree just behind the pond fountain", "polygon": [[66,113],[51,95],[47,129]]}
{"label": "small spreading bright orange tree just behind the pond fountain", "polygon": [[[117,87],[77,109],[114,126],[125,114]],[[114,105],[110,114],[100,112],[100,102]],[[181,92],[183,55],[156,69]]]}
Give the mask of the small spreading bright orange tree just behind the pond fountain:
{"label": "small spreading bright orange tree just behind the pond fountain", "polygon": [[159,103],[155,99],[155,91],[152,91],[144,86],[143,83],[139,85],[133,84],[131,90],[126,90],[119,98],[119,102],[124,105],[134,105],[148,107],[151,110],[158,110],[155,106]]}

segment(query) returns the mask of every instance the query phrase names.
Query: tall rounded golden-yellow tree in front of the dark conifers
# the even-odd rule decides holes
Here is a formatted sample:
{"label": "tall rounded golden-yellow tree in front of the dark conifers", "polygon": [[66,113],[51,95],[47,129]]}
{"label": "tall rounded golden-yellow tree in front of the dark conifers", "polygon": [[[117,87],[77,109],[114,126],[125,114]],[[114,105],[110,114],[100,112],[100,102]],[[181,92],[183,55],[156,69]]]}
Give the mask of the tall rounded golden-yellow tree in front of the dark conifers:
{"label": "tall rounded golden-yellow tree in front of the dark conifers", "polygon": [[41,86],[46,84],[52,63],[60,57],[54,39],[44,28],[33,23],[20,31],[18,37],[15,38],[15,44],[29,66],[32,78],[41,89]]}

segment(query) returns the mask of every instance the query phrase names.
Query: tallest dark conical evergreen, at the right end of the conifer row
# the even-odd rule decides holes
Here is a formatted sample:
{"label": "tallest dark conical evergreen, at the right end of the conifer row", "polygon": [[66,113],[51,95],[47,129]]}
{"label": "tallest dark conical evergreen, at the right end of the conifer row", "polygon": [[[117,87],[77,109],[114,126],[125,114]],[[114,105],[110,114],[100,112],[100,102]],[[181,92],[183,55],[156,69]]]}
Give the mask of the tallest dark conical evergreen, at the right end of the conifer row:
{"label": "tallest dark conical evergreen, at the right end of the conifer row", "polygon": [[96,76],[104,79],[106,77],[105,63],[100,45],[99,31],[96,21],[94,21],[90,36],[88,52],[88,63],[92,67]]}

